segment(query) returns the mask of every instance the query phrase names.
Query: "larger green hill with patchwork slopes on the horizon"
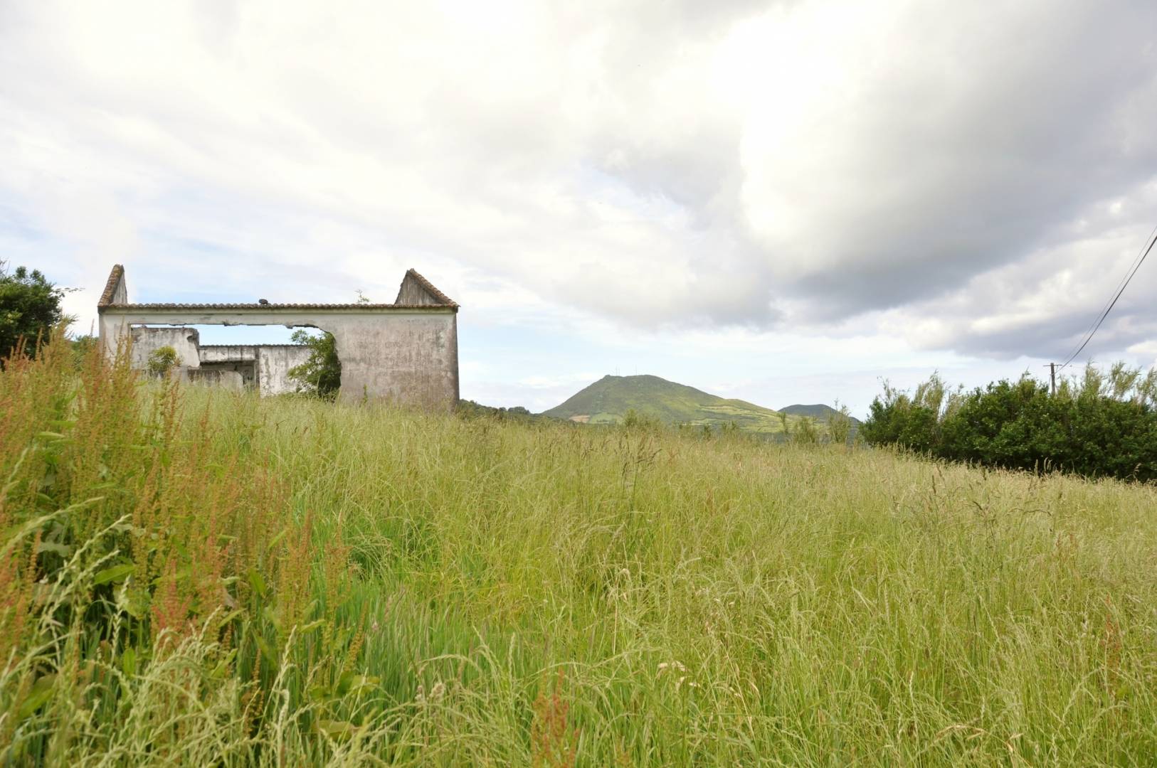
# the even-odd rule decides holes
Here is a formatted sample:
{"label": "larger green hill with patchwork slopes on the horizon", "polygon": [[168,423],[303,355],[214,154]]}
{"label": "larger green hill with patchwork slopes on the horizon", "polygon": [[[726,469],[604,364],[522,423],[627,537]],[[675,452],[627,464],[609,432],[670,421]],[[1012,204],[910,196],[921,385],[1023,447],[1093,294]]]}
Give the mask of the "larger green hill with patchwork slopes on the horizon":
{"label": "larger green hill with patchwork slopes on the horizon", "polygon": [[619,423],[628,411],[665,424],[735,422],[749,433],[775,434],[783,424],[771,408],[729,400],[658,376],[604,376],[544,415],[588,423]]}

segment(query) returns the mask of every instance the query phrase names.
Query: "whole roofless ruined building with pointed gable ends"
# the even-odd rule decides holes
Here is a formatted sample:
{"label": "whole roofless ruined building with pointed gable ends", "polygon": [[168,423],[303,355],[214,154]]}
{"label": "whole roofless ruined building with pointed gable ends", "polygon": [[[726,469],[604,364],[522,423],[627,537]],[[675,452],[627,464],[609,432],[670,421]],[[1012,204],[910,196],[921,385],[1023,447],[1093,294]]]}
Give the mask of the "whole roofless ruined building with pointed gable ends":
{"label": "whole roofless ruined building with pointed gable ends", "polygon": [[[134,367],[170,346],[182,375],[261,394],[292,392],[301,345],[202,345],[192,325],[283,325],[333,334],[341,361],[340,399],[389,399],[449,409],[458,401],[458,305],[410,269],[392,304],[132,304],[125,268],[112,267],[97,303],[105,354],[131,344]],[[153,327],[168,326],[168,327]]]}

